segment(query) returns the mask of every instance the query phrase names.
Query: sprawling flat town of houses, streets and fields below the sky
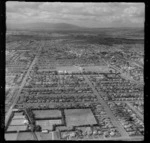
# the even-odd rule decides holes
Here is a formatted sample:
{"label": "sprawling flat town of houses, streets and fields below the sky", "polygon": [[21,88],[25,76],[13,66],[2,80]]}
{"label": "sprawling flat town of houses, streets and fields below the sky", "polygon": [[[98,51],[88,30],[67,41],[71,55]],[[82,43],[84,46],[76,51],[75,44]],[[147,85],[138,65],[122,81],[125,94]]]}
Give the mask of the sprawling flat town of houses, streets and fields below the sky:
{"label": "sprawling flat town of houses, streets and fields below the sky", "polygon": [[39,25],[6,32],[5,140],[143,140],[144,29]]}

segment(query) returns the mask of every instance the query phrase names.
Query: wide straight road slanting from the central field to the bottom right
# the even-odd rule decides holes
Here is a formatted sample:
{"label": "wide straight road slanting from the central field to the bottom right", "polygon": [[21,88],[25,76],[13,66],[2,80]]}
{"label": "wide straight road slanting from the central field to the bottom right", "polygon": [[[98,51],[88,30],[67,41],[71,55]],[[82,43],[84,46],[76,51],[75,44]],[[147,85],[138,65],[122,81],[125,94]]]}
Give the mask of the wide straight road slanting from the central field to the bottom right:
{"label": "wide straight road slanting from the central field to the bottom right", "polygon": [[[106,113],[108,114],[108,116],[111,118],[113,124],[119,129],[121,135],[125,138],[129,138],[129,135],[127,134],[127,132],[125,131],[125,129],[122,127],[122,125],[119,123],[119,121],[116,121],[115,116],[112,114],[110,108],[107,106],[107,104],[105,103],[105,101],[101,98],[101,96],[99,95],[99,93],[97,92],[97,90],[95,89],[95,87],[91,84],[91,82],[89,81],[88,77],[86,75],[83,75],[85,80],[87,81],[87,83],[90,85],[90,87],[92,88],[93,92],[95,95],[97,95],[97,98],[99,100],[99,102],[102,104],[102,106],[104,107]],[[103,93],[100,93],[103,94]]]}

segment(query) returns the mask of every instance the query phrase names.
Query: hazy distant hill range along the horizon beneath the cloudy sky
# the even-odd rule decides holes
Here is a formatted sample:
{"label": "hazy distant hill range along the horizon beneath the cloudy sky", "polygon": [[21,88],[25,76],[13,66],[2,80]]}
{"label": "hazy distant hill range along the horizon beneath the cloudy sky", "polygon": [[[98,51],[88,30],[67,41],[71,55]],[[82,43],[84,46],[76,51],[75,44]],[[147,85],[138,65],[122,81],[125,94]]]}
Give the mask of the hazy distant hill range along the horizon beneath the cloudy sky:
{"label": "hazy distant hill range along the horizon beneath the cloudy sky", "polygon": [[115,29],[122,29],[126,31],[127,29],[138,29],[140,31],[144,31],[144,28],[87,28],[80,27],[73,24],[67,23],[46,23],[46,22],[38,22],[38,23],[7,23],[7,30],[27,30],[27,31],[115,31]]}

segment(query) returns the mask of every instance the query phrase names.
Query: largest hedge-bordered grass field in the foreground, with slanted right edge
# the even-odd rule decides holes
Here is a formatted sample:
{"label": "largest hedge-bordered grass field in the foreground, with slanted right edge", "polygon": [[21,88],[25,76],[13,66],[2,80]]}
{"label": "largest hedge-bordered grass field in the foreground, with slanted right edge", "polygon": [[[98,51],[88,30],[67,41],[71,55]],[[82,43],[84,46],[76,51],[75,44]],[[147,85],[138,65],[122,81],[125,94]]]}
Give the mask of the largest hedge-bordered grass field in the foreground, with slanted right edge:
{"label": "largest hedge-bordered grass field in the foreground, with slanted right edge", "polygon": [[79,126],[96,124],[91,109],[68,109],[65,110],[67,126]]}

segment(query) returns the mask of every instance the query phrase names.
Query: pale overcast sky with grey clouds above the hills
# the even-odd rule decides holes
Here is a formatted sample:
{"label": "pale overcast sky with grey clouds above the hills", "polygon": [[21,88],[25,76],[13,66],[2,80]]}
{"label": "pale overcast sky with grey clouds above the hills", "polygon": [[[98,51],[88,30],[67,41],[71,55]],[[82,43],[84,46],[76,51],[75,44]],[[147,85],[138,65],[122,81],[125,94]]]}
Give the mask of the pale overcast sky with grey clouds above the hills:
{"label": "pale overcast sky with grey clouds above the hills", "polygon": [[143,27],[144,3],[6,2],[7,23],[70,23],[86,27]]}

